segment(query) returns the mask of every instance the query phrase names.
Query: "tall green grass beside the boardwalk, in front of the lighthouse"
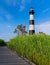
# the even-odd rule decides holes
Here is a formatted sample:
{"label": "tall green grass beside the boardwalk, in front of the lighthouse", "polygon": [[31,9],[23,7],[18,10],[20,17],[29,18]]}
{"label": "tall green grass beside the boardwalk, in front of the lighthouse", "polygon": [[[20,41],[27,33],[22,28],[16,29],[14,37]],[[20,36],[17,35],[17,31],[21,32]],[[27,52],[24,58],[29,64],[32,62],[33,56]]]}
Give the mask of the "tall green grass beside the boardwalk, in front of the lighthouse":
{"label": "tall green grass beside the boardwalk, in front of the lighthouse", "polygon": [[50,36],[48,35],[18,36],[10,39],[7,46],[37,65],[50,65]]}

